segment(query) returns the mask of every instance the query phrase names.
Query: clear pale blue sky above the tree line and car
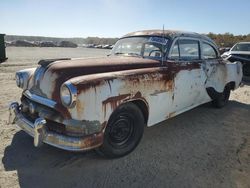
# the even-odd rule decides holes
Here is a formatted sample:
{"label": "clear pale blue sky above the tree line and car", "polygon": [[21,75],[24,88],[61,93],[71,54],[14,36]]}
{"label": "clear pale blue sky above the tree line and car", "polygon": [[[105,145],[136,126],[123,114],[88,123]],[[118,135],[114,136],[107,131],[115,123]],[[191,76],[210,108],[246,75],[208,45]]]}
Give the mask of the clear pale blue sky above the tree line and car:
{"label": "clear pale blue sky above the tree line and car", "polygon": [[0,0],[0,33],[121,37],[145,29],[250,33],[249,0]]}

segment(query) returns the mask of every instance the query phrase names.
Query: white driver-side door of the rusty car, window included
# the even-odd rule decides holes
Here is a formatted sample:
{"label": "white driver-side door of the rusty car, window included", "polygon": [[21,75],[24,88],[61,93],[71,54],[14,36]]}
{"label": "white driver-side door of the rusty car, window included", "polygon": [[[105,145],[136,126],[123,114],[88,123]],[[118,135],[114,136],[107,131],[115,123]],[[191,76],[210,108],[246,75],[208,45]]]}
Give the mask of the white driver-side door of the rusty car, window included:
{"label": "white driver-side door of the rusty car, window included", "polygon": [[174,78],[174,109],[181,113],[202,103],[206,94],[206,75],[202,66],[201,42],[196,38],[180,37],[170,49],[168,59],[176,67]]}

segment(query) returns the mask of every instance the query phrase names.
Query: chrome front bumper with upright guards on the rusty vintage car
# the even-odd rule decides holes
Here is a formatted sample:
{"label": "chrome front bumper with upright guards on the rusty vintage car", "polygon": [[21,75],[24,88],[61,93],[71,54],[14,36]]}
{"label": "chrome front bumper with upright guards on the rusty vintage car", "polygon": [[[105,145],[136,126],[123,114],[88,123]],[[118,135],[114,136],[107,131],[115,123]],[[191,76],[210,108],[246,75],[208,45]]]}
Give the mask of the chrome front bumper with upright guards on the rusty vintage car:
{"label": "chrome front bumper with upright guards on the rusty vintage car", "polygon": [[44,118],[37,118],[34,123],[28,120],[21,112],[17,102],[9,106],[9,123],[17,124],[22,130],[34,137],[34,146],[42,143],[69,151],[84,151],[97,148],[103,143],[104,133],[96,133],[84,137],[73,137],[49,131]]}

